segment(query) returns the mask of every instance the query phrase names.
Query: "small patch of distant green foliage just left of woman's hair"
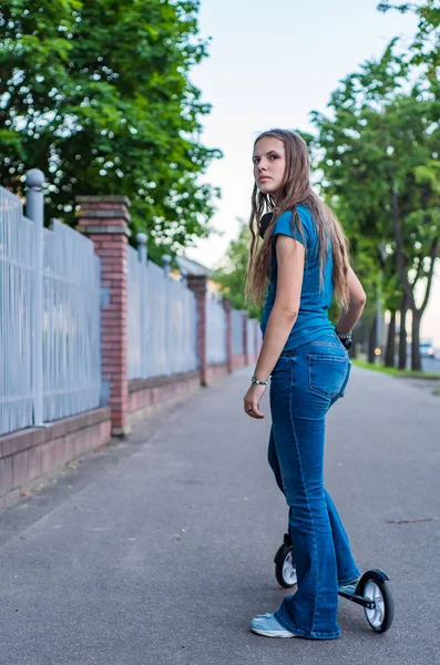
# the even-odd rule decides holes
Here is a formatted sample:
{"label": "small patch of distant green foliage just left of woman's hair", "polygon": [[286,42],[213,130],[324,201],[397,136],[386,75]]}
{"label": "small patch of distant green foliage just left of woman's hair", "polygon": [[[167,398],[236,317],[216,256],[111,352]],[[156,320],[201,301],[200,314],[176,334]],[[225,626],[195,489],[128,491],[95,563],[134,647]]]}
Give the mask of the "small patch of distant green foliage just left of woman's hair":
{"label": "small patch of distant green foliage just left of woman's hair", "polygon": [[263,307],[247,305],[244,295],[250,238],[248,225],[241,221],[238,238],[231,242],[224,267],[218,268],[212,278],[221,285],[222,295],[231,299],[233,307],[246,309],[252,317],[259,319]]}

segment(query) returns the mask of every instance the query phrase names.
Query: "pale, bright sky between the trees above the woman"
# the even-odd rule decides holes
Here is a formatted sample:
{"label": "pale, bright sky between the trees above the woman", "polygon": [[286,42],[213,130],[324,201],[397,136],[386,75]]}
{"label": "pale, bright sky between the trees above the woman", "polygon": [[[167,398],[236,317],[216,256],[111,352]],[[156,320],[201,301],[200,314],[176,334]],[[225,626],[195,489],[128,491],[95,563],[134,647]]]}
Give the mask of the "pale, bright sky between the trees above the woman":
{"label": "pale, bright sky between the trees above the woman", "polygon": [[[309,113],[326,113],[338,82],[390,39],[409,43],[416,18],[377,11],[377,0],[201,0],[199,28],[209,57],[191,79],[212,104],[202,141],[219,147],[204,180],[222,190],[212,221],[222,233],[199,239],[190,258],[216,267],[248,218],[256,135],[279,126],[311,131]],[[438,262],[439,263],[439,262]],[[440,347],[440,268],[421,332]]]}

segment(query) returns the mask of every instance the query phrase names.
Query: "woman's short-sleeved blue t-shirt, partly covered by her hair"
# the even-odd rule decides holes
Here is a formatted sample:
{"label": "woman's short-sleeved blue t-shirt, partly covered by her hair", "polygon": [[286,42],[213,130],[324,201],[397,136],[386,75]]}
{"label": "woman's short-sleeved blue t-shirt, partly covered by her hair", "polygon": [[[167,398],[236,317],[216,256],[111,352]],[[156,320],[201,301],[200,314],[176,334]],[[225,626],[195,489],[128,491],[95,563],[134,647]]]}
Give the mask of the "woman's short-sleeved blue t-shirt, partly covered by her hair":
{"label": "woman's short-sleeved blue t-shirt, partly covered by her hair", "polygon": [[334,294],[332,280],[332,256],[331,242],[328,241],[328,255],[324,266],[324,286],[319,289],[319,238],[314,218],[304,204],[297,206],[297,213],[301,221],[303,233],[295,228],[295,235],[291,231],[293,213],[287,211],[278,217],[274,235],[272,238],[272,264],[270,279],[266,295],[266,301],[263,309],[260,329],[263,337],[266,331],[267,321],[275,303],[276,286],[277,286],[277,258],[275,252],[275,238],[278,234],[287,235],[295,238],[301,245],[307,247],[306,260],[304,266],[304,278],[301,287],[301,296],[299,303],[298,317],[290,335],[287,338],[285,351],[296,349],[301,344],[318,339],[323,332],[334,329],[334,325],[328,319],[328,308],[331,305]]}

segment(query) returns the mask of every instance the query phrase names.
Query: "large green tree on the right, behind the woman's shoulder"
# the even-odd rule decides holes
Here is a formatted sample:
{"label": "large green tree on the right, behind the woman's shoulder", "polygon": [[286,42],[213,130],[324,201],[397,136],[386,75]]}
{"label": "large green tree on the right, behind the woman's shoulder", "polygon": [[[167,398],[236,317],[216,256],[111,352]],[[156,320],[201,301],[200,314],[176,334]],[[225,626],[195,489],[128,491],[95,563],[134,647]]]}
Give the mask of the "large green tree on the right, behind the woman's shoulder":
{"label": "large green tree on the right, behind the woman's shoulder", "polygon": [[[393,257],[392,293],[412,313],[412,367],[420,368],[419,330],[429,300],[440,239],[437,187],[438,82],[408,83],[409,65],[395,42],[379,62],[350,74],[330,100],[331,117],[314,114],[323,187],[336,197],[348,235],[369,238]],[[374,275],[380,270],[377,265]],[[395,275],[399,276],[396,288]],[[424,280],[424,297],[415,289]]]}

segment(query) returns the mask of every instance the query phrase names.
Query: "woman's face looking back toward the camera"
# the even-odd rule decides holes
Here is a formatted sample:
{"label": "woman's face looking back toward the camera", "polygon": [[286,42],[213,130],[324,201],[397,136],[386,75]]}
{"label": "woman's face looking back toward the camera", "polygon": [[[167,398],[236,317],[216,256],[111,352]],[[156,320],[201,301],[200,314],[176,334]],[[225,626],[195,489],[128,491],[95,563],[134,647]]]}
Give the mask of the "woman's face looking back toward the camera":
{"label": "woman's face looking back toward the camera", "polygon": [[276,194],[286,167],[283,141],[273,136],[260,139],[254,147],[253,162],[258,190],[262,194]]}

